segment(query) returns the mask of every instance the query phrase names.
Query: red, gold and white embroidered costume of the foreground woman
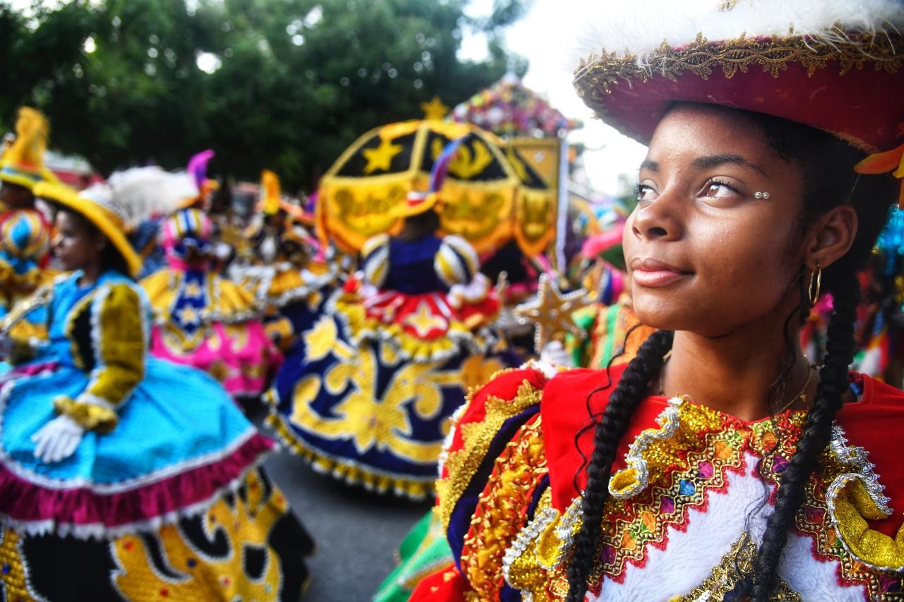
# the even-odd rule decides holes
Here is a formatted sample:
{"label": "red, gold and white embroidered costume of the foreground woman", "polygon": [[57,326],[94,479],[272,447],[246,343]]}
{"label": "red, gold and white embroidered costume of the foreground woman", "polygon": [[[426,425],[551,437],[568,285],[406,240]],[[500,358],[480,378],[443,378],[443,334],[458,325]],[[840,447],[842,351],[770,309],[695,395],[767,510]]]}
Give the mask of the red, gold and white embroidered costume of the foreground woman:
{"label": "red, gold and white embroidered costume of the foreground woman", "polygon": [[[609,376],[614,387],[621,369]],[[526,369],[476,392],[437,484],[454,562],[412,600],[565,597],[581,454],[593,448],[592,429],[577,447],[575,434],[605,409],[613,389],[589,393],[607,381],[605,371]],[[904,589],[904,530],[890,511],[904,479],[888,426],[904,419],[904,394],[859,374],[852,390],[861,399],[838,413],[789,536],[783,599],[891,599]],[[804,421],[802,411],[747,422],[686,398],[643,400],[613,466],[588,599],[735,599]]]}

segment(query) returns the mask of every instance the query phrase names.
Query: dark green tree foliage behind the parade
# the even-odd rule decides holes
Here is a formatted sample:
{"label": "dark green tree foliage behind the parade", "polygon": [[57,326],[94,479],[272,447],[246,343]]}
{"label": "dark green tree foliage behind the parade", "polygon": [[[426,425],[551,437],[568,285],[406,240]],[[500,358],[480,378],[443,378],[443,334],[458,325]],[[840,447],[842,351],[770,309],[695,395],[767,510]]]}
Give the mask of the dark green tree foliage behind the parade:
{"label": "dark green tree foliage behind the parade", "polygon": [[[41,108],[52,147],[102,174],[175,168],[211,147],[220,174],[254,180],[268,167],[309,189],[368,129],[526,71],[500,33],[529,1],[495,0],[480,20],[464,14],[467,0],[0,5],[0,124],[20,104]],[[477,29],[488,60],[460,61],[463,34]]]}

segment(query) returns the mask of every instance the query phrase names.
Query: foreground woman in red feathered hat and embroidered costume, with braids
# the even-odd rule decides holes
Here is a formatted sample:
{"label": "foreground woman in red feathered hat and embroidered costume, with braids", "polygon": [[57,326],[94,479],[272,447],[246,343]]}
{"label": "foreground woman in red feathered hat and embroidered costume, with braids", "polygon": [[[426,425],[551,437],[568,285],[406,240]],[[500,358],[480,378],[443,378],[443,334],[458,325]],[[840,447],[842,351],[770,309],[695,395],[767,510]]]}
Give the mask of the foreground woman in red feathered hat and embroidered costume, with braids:
{"label": "foreground woman in red feathered hat and embroidered costume, with braids", "polygon": [[904,395],[848,365],[857,270],[899,198],[904,7],[606,8],[615,52],[576,85],[649,145],[624,245],[660,330],[626,367],[476,392],[437,485],[455,561],[413,599],[897,597]]}

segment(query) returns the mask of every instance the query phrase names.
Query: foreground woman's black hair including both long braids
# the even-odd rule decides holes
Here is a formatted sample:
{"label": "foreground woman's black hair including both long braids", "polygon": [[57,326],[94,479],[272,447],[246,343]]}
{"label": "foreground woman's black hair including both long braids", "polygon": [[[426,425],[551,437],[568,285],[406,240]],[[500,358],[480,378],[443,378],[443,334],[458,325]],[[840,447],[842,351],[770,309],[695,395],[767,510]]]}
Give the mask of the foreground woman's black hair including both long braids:
{"label": "foreground woman's black hair including both long braids", "polygon": [[[896,193],[895,182],[887,176],[855,174],[852,167],[863,154],[835,136],[782,118],[749,111],[739,113],[746,114],[753,126],[761,130],[778,155],[801,170],[804,209],[797,216],[798,236],[791,241],[789,253],[795,249],[794,245],[803,242],[807,228],[833,207],[850,204],[858,216],[857,234],[851,249],[823,272],[824,290],[833,294],[826,353],[814,406],[807,413],[796,453],[781,475],[775,512],[768,519],[755,562],[750,595],[760,602],[769,599],[777,586],[778,565],[788,531],[804,501],[805,485],[828,445],[835,414],[841,409],[843,395],[849,387],[848,366],[856,350],[853,324],[860,301],[856,274],[870,257],[873,242]],[[804,268],[802,272],[805,272]],[[802,273],[802,277],[804,275]],[[802,323],[809,314],[809,307],[801,304],[801,309],[796,311],[801,311]],[[596,425],[593,453],[587,465],[582,523],[574,538],[568,569],[570,602],[583,599],[599,560],[601,522],[618,444],[625,436],[636,408],[648,394],[649,382],[662,370],[664,355],[671,349],[672,341],[672,333],[660,331],[644,343],[610,394],[603,417]],[[746,581],[750,583],[751,579]]]}

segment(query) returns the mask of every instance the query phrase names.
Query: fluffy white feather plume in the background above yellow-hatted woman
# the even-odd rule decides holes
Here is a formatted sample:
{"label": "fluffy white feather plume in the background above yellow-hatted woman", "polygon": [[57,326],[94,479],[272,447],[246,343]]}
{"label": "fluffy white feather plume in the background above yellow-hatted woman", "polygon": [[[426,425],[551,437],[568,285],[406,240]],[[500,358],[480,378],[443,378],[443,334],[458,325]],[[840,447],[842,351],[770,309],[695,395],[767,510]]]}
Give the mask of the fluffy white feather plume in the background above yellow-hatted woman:
{"label": "fluffy white feather plume in the background above yellow-hatted woman", "polygon": [[108,202],[130,229],[148,218],[174,212],[181,202],[198,194],[191,174],[170,173],[155,166],[115,172],[107,183]]}

